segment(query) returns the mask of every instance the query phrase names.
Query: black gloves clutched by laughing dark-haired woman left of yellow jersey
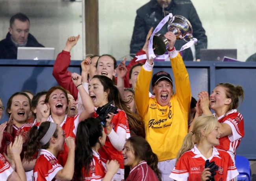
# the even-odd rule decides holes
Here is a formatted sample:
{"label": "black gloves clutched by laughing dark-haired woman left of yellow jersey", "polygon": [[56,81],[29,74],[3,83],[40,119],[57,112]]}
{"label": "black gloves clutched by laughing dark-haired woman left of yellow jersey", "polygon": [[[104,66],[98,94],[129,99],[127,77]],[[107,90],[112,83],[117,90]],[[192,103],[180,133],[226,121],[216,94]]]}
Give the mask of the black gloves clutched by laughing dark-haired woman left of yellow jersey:
{"label": "black gloves clutched by laughing dark-haired woman left of yellow jersey", "polygon": [[114,114],[118,113],[117,108],[111,105],[112,103],[113,101],[107,103],[102,107],[98,107],[98,109],[96,110],[96,113],[98,114],[97,119],[101,121],[103,127],[106,127],[106,119],[109,118],[109,116],[107,116],[109,112],[112,112]]}

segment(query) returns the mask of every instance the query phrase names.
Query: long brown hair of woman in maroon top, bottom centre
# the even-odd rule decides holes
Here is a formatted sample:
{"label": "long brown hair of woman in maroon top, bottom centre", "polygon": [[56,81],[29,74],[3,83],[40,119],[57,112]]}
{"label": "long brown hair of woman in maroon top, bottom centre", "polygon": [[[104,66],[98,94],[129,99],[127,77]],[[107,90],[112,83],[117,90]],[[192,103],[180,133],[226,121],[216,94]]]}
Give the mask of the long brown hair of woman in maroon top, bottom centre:
{"label": "long brown hair of woman in maroon top, bottom centre", "polygon": [[146,161],[149,167],[156,173],[158,180],[161,181],[161,172],[157,167],[158,157],[152,151],[152,148],[146,139],[141,138],[140,136],[132,136],[128,138],[127,141],[132,147],[135,158],[140,161]]}

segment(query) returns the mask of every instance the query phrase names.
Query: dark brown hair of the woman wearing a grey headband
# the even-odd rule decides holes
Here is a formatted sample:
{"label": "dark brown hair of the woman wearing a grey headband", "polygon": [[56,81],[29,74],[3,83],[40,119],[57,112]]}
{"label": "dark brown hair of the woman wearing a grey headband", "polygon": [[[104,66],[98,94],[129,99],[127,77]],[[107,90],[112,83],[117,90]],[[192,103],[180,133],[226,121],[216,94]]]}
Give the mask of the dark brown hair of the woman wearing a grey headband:
{"label": "dark brown hair of the woman wearing a grey headband", "polygon": [[[33,155],[39,150],[39,149],[47,149],[50,146],[50,140],[45,145],[41,145],[40,140],[45,136],[46,132],[48,131],[50,127],[50,121],[46,121],[41,123],[40,127],[33,126],[29,131],[29,141],[28,141],[28,149],[25,154],[25,158],[28,161],[31,161],[33,159]],[[58,127],[56,128],[54,134],[54,138],[58,138]]]}

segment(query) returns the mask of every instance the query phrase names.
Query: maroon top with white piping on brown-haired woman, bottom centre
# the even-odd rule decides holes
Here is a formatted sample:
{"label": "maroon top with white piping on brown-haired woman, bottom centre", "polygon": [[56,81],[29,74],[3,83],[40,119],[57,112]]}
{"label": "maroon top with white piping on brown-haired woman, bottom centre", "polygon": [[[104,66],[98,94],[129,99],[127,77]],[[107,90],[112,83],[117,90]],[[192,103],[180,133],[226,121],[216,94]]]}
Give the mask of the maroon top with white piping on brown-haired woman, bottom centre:
{"label": "maroon top with white piping on brown-haired woman, bottom centre", "polygon": [[156,173],[150,168],[146,161],[141,161],[137,166],[130,170],[126,181],[158,181]]}

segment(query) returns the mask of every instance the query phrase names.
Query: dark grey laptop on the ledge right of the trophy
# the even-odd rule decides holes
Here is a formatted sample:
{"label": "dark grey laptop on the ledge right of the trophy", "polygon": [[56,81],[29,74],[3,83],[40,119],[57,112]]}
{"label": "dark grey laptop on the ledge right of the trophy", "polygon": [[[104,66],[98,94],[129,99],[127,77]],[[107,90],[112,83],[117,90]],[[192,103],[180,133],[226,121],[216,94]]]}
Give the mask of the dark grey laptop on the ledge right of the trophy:
{"label": "dark grey laptop on the ledge right of the trophy", "polygon": [[237,49],[201,49],[200,61],[222,62],[224,56],[237,59]]}

